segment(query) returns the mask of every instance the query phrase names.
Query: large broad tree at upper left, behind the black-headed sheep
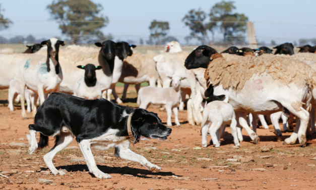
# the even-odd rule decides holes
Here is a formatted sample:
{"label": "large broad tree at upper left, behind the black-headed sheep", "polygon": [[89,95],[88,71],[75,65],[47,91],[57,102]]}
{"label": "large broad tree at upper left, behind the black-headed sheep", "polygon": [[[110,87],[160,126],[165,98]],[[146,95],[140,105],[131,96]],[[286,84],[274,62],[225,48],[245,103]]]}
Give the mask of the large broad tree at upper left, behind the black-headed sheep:
{"label": "large broad tree at upper left, behind the black-headed sheep", "polygon": [[100,29],[109,22],[107,17],[99,15],[102,6],[90,0],[57,0],[47,9],[51,17],[60,23],[61,32],[70,36],[73,43],[86,40],[91,35],[103,37]]}

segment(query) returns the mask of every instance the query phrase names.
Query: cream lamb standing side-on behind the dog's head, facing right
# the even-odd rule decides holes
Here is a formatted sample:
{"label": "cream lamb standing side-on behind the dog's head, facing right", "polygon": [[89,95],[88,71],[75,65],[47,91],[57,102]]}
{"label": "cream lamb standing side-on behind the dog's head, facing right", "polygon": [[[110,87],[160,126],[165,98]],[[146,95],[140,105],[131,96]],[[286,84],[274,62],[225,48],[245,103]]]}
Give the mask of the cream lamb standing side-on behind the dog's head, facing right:
{"label": "cream lamb standing side-on behind the dog's head, facing right", "polygon": [[[181,78],[178,75],[172,76],[172,87],[160,88],[146,86],[138,91],[137,104],[140,108],[147,109],[149,104],[164,105],[167,111],[167,126],[171,124],[171,114],[173,111],[175,124],[180,126],[178,119],[177,105],[181,100]],[[172,111],[171,111],[172,110]]]}

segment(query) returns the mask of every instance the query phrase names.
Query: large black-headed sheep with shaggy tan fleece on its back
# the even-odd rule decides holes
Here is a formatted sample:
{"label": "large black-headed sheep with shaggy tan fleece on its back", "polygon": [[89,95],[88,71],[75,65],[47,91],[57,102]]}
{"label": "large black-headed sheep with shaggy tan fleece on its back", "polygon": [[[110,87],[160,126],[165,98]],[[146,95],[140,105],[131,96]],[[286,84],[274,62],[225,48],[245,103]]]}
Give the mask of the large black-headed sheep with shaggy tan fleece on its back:
{"label": "large black-headed sheep with shaggy tan fleece on its back", "polygon": [[[310,66],[298,60],[267,54],[232,61],[218,58],[210,62],[196,55],[197,52],[208,51],[202,48],[199,46],[187,57],[187,69],[205,68],[208,64],[206,72],[213,82],[214,94],[225,94],[224,101],[240,113],[266,115],[282,111],[285,107],[300,119],[300,126],[284,140],[284,144],[294,144],[298,138],[301,146],[306,145],[307,110],[311,108],[311,89],[316,85],[316,72]],[[247,125],[243,116],[239,121],[240,125]],[[255,132],[250,134],[250,138],[255,143],[259,140]]]}

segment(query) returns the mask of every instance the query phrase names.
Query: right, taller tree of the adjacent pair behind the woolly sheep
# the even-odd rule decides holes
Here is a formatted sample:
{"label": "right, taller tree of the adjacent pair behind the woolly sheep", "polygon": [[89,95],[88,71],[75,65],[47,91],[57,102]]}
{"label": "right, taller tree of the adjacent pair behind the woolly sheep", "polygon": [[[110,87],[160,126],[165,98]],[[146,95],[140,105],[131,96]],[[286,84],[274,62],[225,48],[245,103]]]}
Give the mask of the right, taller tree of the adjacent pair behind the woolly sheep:
{"label": "right, taller tree of the adjacent pair behind the woolly sheep", "polygon": [[218,23],[217,26],[224,35],[224,41],[235,41],[246,32],[248,17],[244,14],[232,13],[236,7],[234,2],[215,4],[209,14],[211,22]]}

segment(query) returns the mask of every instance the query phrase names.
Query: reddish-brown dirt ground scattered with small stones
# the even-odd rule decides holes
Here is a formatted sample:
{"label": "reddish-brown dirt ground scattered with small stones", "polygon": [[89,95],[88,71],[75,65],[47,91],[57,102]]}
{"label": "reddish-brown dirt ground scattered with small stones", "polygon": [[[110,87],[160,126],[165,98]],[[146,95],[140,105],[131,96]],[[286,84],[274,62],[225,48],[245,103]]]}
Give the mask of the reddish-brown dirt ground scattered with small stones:
{"label": "reddish-brown dirt ground scattered with small stones", "polygon": [[[124,105],[136,106],[134,87],[130,87]],[[121,92],[121,88],[117,90]],[[112,176],[98,179],[88,172],[78,144],[73,143],[59,152],[53,162],[64,176],[50,174],[43,156],[49,148],[28,154],[26,133],[29,119],[23,120],[21,107],[15,111],[7,108],[5,94],[0,100],[0,189],[316,189],[316,141],[309,139],[305,148],[299,145],[284,146],[274,134],[273,126],[258,129],[260,144],[255,145],[243,130],[244,141],[234,148],[230,129],[226,128],[221,147],[201,147],[201,127],[188,125],[186,111],[179,112],[181,126],[172,126],[172,133],[165,141],[141,141],[131,149],[162,167],[152,173],[138,163],[114,157],[114,149],[93,150],[100,170]],[[132,102],[132,103],[131,103]],[[166,112],[151,106],[166,122]],[[172,117],[173,121],[173,117]],[[282,128],[282,127],[281,127]],[[315,137],[315,136],[314,136]],[[39,138],[37,136],[37,138]],[[208,136],[208,139],[211,139]],[[261,152],[271,145],[273,149]]]}

